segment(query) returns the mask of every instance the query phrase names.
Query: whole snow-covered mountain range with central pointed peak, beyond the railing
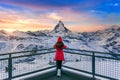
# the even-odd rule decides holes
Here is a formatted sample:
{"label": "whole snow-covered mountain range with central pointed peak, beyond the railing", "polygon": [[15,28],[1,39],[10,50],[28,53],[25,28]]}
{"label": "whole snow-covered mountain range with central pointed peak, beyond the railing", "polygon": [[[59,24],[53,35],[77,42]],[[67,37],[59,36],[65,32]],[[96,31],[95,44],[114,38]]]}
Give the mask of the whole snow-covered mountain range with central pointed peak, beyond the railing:
{"label": "whole snow-covered mountain range with central pointed peak, beyond the railing", "polygon": [[114,25],[96,32],[75,33],[67,29],[62,21],[52,31],[15,31],[11,35],[0,31],[0,51],[31,50],[36,46],[38,49],[51,48],[58,36],[63,37],[68,48],[120,53],[120,26]]}

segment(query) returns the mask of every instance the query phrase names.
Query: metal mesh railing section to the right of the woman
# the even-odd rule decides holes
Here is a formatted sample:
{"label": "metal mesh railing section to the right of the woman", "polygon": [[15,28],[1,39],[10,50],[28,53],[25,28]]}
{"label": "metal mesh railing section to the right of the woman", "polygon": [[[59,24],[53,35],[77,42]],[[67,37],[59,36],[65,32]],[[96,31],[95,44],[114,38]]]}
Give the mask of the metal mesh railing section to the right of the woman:
{"label": "metal mesh railing section to the right of the woman", "polygon": [[93,78],[120,80],[120,53],[77,49],[65,49],[64,52],[64,67],[87,73]]}

